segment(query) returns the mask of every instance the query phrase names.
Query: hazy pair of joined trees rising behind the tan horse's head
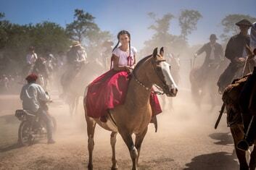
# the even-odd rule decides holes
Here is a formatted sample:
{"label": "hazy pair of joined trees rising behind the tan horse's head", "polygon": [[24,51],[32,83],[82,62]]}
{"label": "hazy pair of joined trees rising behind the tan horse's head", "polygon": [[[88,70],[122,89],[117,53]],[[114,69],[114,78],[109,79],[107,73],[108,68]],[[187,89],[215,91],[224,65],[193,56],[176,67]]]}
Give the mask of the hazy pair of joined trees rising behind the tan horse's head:
{"label": "hazy pair of joined trees rising behind the tan horse's head", "polygon": [[156,14],[149,12],[149,17],[154,20],[154,24],[149,26],[150,30],[154,30],[154,35],[148,41],[144,42],[142,54],[149,54],[155,47],[165,47],[167,53],[181,53],[184,48],[188,47],[186,36],[191,34],[192,30],[197,29],[197,22],[202,15],[194,10],[183,10],[178,18],[181,26],[181,35],[173,35],[170,33],[170,22],[175,17],[173,14],[165,14],[162,18],[157,18]]}

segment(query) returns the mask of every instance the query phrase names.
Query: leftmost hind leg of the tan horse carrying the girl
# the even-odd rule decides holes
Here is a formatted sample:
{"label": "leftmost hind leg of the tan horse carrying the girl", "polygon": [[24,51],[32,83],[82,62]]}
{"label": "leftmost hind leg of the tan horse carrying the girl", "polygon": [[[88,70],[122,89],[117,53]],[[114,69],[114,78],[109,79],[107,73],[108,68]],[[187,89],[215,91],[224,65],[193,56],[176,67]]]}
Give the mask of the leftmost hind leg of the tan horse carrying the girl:
{"label": "leftmost hind leg of the tan horse carrying the girl", "polygon": [[96,127],[96,122],[94,122],[94,119],[91,119],[88,116],[86,116],[86,123],[87,123],[88,151],[89,151],[88,169],[93,169],[92,152],[94,150],[94,130]]}

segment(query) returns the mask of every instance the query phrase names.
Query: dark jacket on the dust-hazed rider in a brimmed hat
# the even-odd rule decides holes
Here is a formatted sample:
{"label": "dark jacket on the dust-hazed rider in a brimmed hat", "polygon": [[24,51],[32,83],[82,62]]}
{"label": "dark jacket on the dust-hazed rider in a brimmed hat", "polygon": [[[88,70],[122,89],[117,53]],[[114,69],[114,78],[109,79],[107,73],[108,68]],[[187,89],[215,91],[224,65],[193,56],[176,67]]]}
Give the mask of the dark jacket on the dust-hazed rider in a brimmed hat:
{"label": "dark jacket on the dust-hazed rider in a brimmed hat", "polygon": [[[214,50],[214,55],[215,55],[214,61],[215,62],[220,62],[221,59],[223,58],[223,48],[222,48],[222,46],[219,43],[215,43],[214,48],[215,48],[215,50]],[[197,55],[200,55],[203,52],[206,53],[204,64],[209,64],[209,62],[210,62],[210,52],[211,52],[211,49],[212,48],[210,46],[210,43],[205,43],[205,45],[202,46],[202,48],[200,48],[197,51]]]}

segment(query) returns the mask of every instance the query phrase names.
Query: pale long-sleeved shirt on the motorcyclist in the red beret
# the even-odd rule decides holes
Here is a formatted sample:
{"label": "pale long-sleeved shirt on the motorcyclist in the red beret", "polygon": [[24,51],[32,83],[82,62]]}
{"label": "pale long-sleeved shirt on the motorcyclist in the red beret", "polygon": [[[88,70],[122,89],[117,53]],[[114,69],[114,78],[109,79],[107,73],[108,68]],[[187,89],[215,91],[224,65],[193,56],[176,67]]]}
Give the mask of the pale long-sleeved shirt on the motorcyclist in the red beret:
{"label": "pale long-sleeved shirt on the motorcyclist in the red beret", "polygon": [[36,112],[40,107],[40,101],[49,101],[49,95],[40,85],[29,83],[22,87],[20,100],[22,100],[23,109]]}

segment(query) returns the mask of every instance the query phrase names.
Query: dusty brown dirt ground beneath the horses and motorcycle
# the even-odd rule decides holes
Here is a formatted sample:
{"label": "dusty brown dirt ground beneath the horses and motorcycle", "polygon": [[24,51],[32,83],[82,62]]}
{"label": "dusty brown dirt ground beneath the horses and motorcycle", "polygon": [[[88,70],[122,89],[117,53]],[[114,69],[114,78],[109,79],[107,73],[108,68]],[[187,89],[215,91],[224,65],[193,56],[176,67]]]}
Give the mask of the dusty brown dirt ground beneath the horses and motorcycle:
{"label": "dusty brown dirt ground beneath the horses and motorcycle", "polygon": [[[220,106],[201,111],[191,102],[190,92],[180,90],[173,98],[173,109],[165,106],[158,116],[158,132],[149,124],[141,148],[139,169],[239,169],[226,115],[214,129]],[[14,116],[21,107],[18,95],[0,95],[0,169],[86,169],[88,163],[86,121],[80,101],[78,113],[70,116],[68,107],[51,92],[50,113],[57,119],[57,143],[46,140],[28,147],[17,146],[20,122]],[[96,127],[94,169],[111,169],[110,132]],[[131,158],[117,135],[119,169],[131,169]]]}

